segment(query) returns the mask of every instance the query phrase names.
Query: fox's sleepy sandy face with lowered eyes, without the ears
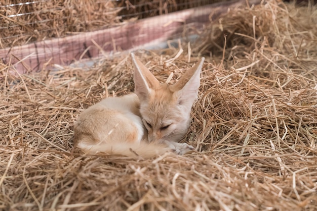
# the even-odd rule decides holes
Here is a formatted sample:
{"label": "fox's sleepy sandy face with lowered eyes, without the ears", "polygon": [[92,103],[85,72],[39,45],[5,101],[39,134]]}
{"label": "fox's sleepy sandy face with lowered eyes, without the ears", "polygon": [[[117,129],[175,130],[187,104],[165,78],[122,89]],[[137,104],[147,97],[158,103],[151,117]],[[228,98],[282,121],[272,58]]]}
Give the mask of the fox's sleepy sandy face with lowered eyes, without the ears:
{"label": "fox's sleepy sandy face with lowered eyes, without the ears", "polygon": [[[190,107],[191,108],[191,107]],[[179,141],[187,132],[190,109],[185,108],[167,84],[141,101],[140,113],[148,131],[148,141]]]}

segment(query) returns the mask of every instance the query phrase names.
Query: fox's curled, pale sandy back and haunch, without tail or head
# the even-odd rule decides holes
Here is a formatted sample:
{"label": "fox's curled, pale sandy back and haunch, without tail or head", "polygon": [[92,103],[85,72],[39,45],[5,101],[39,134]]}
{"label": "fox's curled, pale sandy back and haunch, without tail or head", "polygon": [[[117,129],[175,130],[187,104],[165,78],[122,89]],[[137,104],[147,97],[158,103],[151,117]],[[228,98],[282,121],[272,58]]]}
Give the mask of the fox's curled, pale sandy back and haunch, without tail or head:
{"label": "fox's curled, pale sandy back and haunch, without tail or head", "polygon": [[135,94],[109,97],[84,111],[74,125],[74,142],[140,142],[143,136]]}

